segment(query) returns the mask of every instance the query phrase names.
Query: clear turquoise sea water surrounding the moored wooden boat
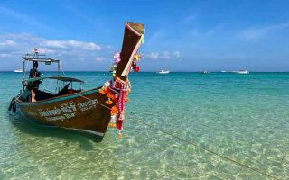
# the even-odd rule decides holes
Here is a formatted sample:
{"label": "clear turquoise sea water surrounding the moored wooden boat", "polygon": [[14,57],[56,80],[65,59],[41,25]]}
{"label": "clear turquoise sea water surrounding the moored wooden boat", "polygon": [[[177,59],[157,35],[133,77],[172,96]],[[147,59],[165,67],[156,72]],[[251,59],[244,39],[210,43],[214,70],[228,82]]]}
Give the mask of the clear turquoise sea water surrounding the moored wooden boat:
{"label": "clear turquoise sea water surrounding the moored wooden boat", "polygon": [[[111,78],[66,76],[86,89]],[[289,179],[289,73],[133,73],[124,138],[109,129],[100,143],[9,115],[21,80],[0,73],[0,179],[269,179],[201,148]]]}

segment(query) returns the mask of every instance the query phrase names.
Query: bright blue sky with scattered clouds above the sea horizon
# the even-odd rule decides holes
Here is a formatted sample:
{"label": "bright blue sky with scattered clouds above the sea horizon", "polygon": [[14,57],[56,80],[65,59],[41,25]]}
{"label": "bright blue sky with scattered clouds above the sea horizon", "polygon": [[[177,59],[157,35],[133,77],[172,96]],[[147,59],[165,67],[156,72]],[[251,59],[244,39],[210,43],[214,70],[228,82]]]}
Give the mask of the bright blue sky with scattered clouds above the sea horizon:
{"label": "bright blue sky with scattered clouds above the sea horizon", "polygon": [[107,71],[124,23],[145,24],[142,71],[289,71],[289,1],[0,1],[0,70],[36,47]]}

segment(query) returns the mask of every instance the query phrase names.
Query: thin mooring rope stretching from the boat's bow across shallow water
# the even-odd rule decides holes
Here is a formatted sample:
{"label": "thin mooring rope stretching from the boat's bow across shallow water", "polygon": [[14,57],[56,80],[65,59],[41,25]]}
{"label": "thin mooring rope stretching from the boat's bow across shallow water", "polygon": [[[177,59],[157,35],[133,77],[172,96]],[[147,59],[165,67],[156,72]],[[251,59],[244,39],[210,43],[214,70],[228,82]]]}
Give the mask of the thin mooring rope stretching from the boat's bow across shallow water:
{"label": "thin mooring rope stretching from the boat's bow across shallow water", "polygon": [[[80,97],[83,97],[83,98],[89,100],[89,101],[94,102],[93,100],[89,99],[89,98],[86,97],[86,96],[83,96],[83,95],[80,95],[80,94],[78,94],[78,95],[79,95]],[[98,102],[94,102],[94,103],[98,103]],[[103,106],[103,107],[105,107],[105,108],[107,108],[107,109],[109,109],[109,110],[111,110],[111,108],[108,107],[107,105],[104,105],[104,104],[101,104],[101,103],[98,103],[98,104],[101,105],[101,106]],[[133,116],[130,116],[130,115],[127,115],[127,114],[126,114],[126,116],[133,118]],[[273,176],[273,175],[268,175],[268,174],[260,171],[260,170],[259,170],[258,168],[256,168],[255,166],[247,166],[246,164],[240,163],[240,162],[238,162],[237,160],[234,160],[234,159],[232,159],[232,158],[230,158],[230,157],[225,157],[224,155],[221,155],[221,154],[219,154],[219,153],[217,153],[217,152],[214,152],[214,151],[212,151],[212,150],[210,150],[210,149],[208,149],[208,148],[202,148],[202,147],[200,147],[198,144],[196,144],[196,143],[194,143],[194,142],[191,142],[191,141],[188,140],[188,139],[182,139],[182,138],[179,137],[179,136],[176,136],[176,135],[174,135],[174,134],[172,134],[172,133],[170,133],[170,132],[167,132],[167,131],[165,131],[165,130],[162,130],[162,129],[160,129],[160,128],[157,128],[157,127],[155,127],[154,125],[149,124],[149,123],[147,123],[147,122],[145,122],[145,121],[143,121],[143,120],[137,120],[137,119],[135,119],[135,121],[141,122],[141,123],[144,124],[145,126],[150,127],[150,128],[152,128],[152,129],[154,129],[154,130],[158,130],[158,131],[160,131],[160,132],[163,132],[163,134],[169,135],[169,136],[171,136],[171,137],[174,138],[174,139],[179,139],[179,140],[181,140],[182,142],[185,142],[185,143],[187,143],[187,144],[190,144],[190,145],[192,145],[192,146],[194,146],[194,147],[196,147],[196,148],[200,148],[200,149],[202,149],[202,150],[204,150],[204,151],[206,151],[206,152],[209,152],[210,154],[212,154],[212,155],[214,155],[214,156],[216,156],[216,157],[220,157],[220,158],[226,159],[226,160],[228,160],[228,161],[230,161],[230,162],[232,162],[232,163],[234,163],[234,164],[236,164],[236,165],[238,165],[238,166],[243,166],[243,167],[245,167],[245,168],[247,168],[247,169],[249,169],[249,170],[251,170],[251,171],[255,171],[256,173],[259,173],[259,174],[261,174],[261,175],[266,175],[267,177],[272,178],[272,179],[278,179],[277,177],[275,177],[275,176]]]}

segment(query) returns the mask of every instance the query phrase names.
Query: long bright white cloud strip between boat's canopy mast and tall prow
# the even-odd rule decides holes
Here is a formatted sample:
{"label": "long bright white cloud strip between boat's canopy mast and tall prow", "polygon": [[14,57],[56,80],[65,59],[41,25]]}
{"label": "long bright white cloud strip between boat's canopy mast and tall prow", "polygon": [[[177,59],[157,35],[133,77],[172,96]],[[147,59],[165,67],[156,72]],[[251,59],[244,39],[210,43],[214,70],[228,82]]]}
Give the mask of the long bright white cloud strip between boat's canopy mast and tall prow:
{"label": "long bright white cloud strip between boat's canopy mast and tall prow", "polygon": [[101,47],[94,42],[85,42],[79,40],[44,40],[42,46],[61,49],[84,49],[84,50],[100,50]]}

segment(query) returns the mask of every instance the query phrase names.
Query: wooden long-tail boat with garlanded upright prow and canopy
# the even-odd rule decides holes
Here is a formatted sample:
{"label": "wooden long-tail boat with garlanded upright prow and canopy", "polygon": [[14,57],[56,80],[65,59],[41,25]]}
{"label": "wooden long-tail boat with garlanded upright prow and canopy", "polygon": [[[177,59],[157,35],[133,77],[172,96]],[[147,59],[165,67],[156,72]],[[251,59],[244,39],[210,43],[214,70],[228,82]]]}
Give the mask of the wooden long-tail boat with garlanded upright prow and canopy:
{"label": "wooden long-tail boat with garlanded upright prow and canopy", "polygon": [[[42,57],[37,49],[34,54],[23,57],[23,89],[15,96],[9,111],[17,113],[29,122],[44,127],[57,127],[76,130],[95,141],[101,141],[107,127],[118,130],[117,137],[122,138],[121,130],[125,115],[126,98],[130,91],[128,74],[137,72],[139,60],[137,50],[144,40],[144,24],[126,22],[121,52],[115,55],[111,67],[112,79],[104,85],[83,90],[83,81],[73,77],[61,76],[61,62],[58,59]],[[26,77],[27,64],[33,64]],[[57,76],[41,76],[38,64],[58,65]],[[55,80],[55,92],[42,89],[42,81]],[[80,84],[76,89],[72,86]]]}

